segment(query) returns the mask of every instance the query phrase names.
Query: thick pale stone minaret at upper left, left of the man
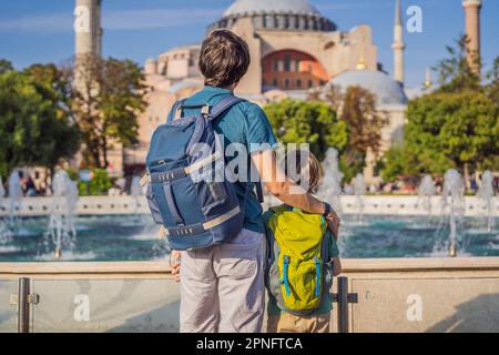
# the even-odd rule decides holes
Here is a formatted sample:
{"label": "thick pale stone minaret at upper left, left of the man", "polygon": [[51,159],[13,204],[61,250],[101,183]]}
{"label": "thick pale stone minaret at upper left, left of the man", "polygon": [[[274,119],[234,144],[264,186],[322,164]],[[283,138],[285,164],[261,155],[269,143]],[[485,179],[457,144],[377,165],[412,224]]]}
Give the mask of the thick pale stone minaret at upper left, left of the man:
{"label": "thick pale stone minaret at upper left, left of the man", "polygon": [[101,0],[75,0],[75,57],[102,54]]}

